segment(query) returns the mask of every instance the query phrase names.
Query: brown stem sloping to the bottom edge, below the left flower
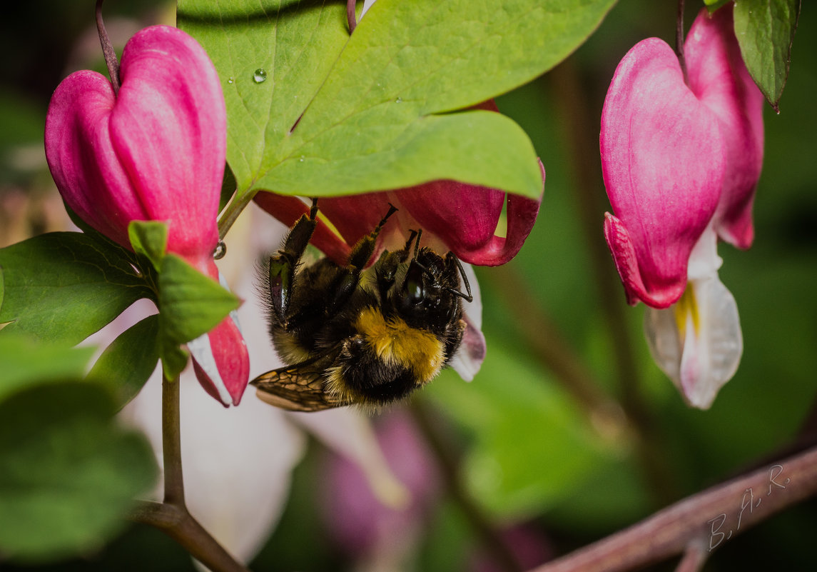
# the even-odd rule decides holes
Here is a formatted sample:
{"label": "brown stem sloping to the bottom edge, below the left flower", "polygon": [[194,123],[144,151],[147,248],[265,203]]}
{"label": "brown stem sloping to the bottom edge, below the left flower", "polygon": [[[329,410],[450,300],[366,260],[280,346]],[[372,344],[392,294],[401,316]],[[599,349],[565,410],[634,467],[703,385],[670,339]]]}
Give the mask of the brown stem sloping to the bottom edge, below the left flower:
{"label": "brown stem sloping to the bottom edge, below the left flower", "polygon": [[249,572],[183,506],[140,503],[131,513],[130,520],[162,530],[213,572]]}

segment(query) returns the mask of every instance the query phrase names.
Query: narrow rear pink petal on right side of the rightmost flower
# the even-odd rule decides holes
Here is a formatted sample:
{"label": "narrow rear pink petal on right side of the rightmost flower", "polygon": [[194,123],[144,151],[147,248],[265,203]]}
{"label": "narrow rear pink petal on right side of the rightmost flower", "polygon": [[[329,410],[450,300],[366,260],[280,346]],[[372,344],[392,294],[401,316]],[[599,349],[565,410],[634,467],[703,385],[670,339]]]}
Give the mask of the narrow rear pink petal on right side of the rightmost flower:
{"label": "narrow rear pink petal on right side of the rightmost flower", "polygon": [[717,232],[738,248],[754,238],[752,202],[763,163],[763,95],[743,64],[734,37],[732,5],[712,16],[704,8],[684,44],[690,89],[717,115],[726,172],[717,208]]}

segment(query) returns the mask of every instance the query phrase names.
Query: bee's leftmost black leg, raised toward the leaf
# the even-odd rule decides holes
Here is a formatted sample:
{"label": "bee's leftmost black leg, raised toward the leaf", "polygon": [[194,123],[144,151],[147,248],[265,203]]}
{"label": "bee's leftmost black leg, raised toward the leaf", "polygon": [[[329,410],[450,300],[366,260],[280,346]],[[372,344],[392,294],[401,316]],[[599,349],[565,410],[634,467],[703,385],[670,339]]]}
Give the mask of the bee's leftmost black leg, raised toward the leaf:
{"label": "bee's leftmost black leg, raised toward the leaf", "polygon": [[292,282],[295,279],[295,269],[301,260],[306,245],[309,244],[315,232],[318,217],[318,199],[312,199],[309,217],[306,214],[292,226],[283,246],[270,257],[269,288],[270,301],[275,317],[281,324],[286,323],[289,310],[289,299],[292,297]]}

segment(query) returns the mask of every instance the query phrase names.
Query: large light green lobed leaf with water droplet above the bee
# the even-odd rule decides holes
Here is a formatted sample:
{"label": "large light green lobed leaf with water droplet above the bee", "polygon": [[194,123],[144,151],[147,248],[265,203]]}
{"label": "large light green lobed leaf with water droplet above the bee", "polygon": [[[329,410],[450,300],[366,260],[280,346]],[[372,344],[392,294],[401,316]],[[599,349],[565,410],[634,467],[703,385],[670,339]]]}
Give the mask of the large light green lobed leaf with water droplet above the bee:
{"label": "large light green lobed leaf with water droplet above the bee", "polygon": [[456,179],[538,198],[536,153],[516,123],[450,112],[559,63],[613,3],[380,0],[349,36],[342,2],[181,0],[178,22],[221,76],[239,195]]}

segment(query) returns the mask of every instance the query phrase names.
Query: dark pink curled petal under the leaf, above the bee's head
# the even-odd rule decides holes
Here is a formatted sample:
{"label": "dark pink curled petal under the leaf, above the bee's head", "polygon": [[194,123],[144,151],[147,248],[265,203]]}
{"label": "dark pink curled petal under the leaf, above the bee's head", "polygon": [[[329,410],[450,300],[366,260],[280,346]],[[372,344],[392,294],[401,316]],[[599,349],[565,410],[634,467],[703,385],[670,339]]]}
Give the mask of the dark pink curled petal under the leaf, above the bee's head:
{"label": "dark pink curled petal under the leaf, above the bee's head", "polygon": [[[542,169],[544,190],[545,169]],[[462,261],[498,266],[516,256],[534,227],[542,199],[457,181],[432,181],[395,192],[424,231],[442,240]],[[506,236],[495,235],[507,200]]]}

